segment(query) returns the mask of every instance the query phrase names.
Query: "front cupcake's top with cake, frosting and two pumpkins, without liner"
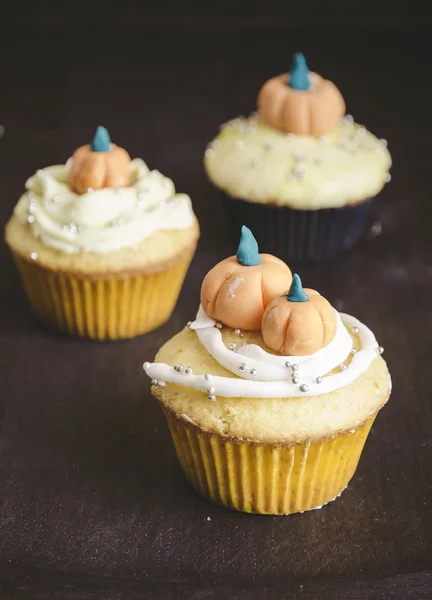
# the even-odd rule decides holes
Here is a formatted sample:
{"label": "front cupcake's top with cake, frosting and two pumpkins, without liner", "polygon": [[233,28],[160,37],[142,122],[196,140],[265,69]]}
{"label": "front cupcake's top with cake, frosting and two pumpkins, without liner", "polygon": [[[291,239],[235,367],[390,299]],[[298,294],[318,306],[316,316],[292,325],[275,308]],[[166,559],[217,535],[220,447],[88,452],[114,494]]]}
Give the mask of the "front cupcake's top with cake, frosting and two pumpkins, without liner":
{"label": "front cupcake's top with cake, frosting and two pumpkins, without liner", "polygon": [[195,321],[144,370],[168,409],[206,430],[298,442],[355,428],[385,403],[382,352],[243,227],[237,256],[206,275]]}

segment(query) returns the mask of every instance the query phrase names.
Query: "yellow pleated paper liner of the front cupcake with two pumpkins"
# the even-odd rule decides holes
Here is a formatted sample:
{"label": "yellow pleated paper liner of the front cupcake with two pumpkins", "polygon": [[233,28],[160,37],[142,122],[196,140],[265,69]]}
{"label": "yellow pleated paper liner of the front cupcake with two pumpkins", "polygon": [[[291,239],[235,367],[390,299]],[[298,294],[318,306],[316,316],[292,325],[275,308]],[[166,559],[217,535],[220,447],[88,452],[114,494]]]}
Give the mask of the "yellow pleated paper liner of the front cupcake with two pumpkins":
{"label": "yellow pleated paper liner of the front cupcake with two pumpkins", "polygon": [[347,487],[375,415],[353,433],[309,445],[235,442],[165,410],[180,465],[192,486],[235,510],[288,515],[321,508]]}

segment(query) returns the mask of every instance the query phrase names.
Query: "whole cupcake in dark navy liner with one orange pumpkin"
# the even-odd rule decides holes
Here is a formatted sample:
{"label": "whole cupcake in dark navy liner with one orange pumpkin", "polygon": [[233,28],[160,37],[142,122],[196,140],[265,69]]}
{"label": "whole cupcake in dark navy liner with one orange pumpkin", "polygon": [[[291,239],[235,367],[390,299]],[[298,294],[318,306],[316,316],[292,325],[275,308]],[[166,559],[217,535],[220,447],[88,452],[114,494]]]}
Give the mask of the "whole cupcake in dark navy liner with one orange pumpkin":
{"label": "whole cupcake in dark navy liner with one orange pumpkin", "polygon": [[246,223],[263,250],[285,259],[350,249],[390,181],[387,142],[344,117],[341,93],[309,72],[302,54],[289,74],[264,84],[258,111],[223,125],[205,152],[235,236]]}

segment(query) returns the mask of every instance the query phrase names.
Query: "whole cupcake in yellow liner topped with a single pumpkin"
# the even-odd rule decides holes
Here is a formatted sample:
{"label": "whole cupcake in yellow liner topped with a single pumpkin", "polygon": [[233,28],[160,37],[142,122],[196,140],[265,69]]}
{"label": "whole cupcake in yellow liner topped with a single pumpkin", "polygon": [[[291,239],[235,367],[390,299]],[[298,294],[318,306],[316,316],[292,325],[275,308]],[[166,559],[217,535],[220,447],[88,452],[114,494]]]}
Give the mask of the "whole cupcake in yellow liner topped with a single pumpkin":
{"label": "whole cupcake in yellow liner topped with a single pumpkin", "polygon": [[6,226],[33,312],[98,340],[165,323],[198,237],[189,196],[111,144],[103,127],[65,165],[28,179]]}

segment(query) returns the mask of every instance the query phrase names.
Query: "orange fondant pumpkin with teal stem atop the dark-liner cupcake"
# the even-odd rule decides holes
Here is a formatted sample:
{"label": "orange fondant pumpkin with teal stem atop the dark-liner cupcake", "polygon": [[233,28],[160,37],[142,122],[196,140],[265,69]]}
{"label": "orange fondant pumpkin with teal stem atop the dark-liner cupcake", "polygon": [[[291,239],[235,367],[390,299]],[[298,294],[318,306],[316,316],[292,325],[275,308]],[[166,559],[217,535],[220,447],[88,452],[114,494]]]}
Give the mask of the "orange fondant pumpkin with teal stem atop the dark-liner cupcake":
{"label": "orange fondant pumpkin with teal stem atop the dark-liner cupcake", "polygon": [[335,129],[345,115],[345,102],[334,83],[309,72],[304,56],[296,54],[289,74],[263,85],[258,110],[277,129],[319,136]]}

